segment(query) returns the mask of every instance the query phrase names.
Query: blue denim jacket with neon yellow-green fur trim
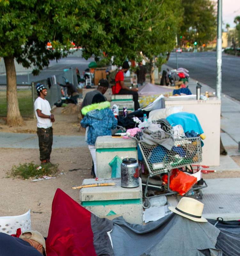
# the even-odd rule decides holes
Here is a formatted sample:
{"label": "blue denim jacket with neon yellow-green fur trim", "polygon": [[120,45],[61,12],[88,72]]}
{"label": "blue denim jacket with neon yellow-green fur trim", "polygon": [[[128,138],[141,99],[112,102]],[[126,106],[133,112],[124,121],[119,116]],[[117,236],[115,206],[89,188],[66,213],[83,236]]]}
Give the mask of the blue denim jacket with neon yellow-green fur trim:
{"label": "blue denim jacket with neon yellow-green fur trim", "polygon": [[88,129],[88,145],[95,145],[98,136],[111,135],[111,129],[117,126],[117,119],[112,110],[109,109],[110,102],[94,103],[82,108],[81,112],[84,118],[81,120],[81,126]]}

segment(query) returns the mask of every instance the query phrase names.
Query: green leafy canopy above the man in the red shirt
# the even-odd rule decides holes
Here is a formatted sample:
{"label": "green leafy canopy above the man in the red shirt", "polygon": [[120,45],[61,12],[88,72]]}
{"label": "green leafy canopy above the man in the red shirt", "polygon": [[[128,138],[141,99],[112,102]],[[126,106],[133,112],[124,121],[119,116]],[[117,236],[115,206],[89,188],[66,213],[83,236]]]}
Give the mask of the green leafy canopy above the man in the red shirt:
{"label": "green leafy canopy above the man in the red shirt", "polygon": [[88,31],[87,38],[92,40],[91,45],[84,46],[83,56],[99,56],[104,51],[120,65],[142,52],[148,59],[159,56],[162,62],[166,52],[174,48],[181,21],[180,4],[180,0],[102,1],[94,15],[101,34]]}

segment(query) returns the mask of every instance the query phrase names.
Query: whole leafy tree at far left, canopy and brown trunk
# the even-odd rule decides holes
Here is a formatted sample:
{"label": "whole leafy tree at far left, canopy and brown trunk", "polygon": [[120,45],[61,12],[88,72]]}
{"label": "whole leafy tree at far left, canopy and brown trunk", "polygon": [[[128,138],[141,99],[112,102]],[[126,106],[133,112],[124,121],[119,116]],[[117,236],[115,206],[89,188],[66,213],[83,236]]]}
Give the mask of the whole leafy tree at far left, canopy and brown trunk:
{"label": "whole leafy tree at far left, canopy and brown trunk", "polygon": [[[14,58],[26,68],[35,65],[37,73],[48,66],[49,60],[66,56],[72,38],[93,27],[93,11],[98,3],[99,0],[0,1],[0,57],[4,58],[7,75],[7,124],[23,123]],[[49,40],[53,51],[46,48]]]}

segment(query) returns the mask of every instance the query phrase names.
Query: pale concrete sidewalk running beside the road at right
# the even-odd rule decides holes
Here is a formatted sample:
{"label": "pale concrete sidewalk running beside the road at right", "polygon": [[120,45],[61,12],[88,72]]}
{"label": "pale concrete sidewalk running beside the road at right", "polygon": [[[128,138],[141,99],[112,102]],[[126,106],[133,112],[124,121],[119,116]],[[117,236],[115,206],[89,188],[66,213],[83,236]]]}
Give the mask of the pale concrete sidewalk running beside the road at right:
{"label": "pale concrete sidewalk running beside the road at right", "polygon": [[[171,69],[166,65],[162,70]],[[191,74],[190,74],[191,76]],[[200,81],[199,81],[200,82]],[[201,82],[200,82],[201,83]],[[215,92],[212,87],[201,83],[201,93],[205,91]],[[196,94],[197,80],[190,78],[188,87],[192,94]],[[210,167],[217,171],[240,171],[240,152],[238,142],[240,141],[240,102],[221,95],[221,140],[228,155],[220,155],[220,166]],[[237,164],[231,156],[239,157]],[[208,219],[222,217],[224,220],[240,219],[240,178],[216,178],[205,179],[208,187],[203,189],[203,199],[197,200],[204,203],[203,216]],[[194,196],[193,196],[194,197]],[[176,206],[181,199],[176,196],[168,196],[168,202]]]}

